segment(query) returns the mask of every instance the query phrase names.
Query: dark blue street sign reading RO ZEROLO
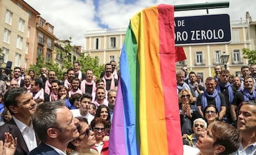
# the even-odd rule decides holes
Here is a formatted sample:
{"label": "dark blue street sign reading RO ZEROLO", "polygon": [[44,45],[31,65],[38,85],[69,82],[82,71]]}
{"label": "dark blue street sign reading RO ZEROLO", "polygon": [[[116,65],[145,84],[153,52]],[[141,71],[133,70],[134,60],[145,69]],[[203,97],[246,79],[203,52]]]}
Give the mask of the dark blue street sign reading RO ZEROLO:
{"label": "dark blue street sign reading RO ZEROLO", "polygon": [[231,42],[228,14],[175,17],[174,20],[176,46]]}

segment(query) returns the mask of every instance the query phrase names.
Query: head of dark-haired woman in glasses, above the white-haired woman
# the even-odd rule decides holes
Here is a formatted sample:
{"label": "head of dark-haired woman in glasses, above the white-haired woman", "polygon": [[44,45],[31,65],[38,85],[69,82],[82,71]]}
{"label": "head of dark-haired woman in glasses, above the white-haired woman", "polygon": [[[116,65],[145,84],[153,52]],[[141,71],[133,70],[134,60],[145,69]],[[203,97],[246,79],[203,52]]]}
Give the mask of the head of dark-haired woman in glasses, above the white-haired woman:
{"label": "head of dark-haired woman in glasses, above the white-haired woman", "polygon": [[217,107],[213,104],[205,107],[205,111],[203,111],[203,117],[205,118],[205,120],[207,120],[208,125],[210,125],[212,122],[219,120],[219,112]]}

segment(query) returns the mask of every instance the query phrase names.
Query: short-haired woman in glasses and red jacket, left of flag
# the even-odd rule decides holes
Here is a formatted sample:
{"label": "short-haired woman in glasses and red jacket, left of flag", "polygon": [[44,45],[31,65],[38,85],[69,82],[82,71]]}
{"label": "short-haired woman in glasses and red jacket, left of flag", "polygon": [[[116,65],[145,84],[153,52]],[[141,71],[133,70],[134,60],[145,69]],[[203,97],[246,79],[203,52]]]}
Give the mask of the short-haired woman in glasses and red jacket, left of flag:
{"label": "short-haired woman in glasses and red jacket, left of flag", "polygon": [[98,151],[98,154],[108,155],[109,141],[103,141],[106,135],[105,131],[106,120],[101,117],[95,117],[91,122],[91,128],[94,132],[96,144],[92,148]]}

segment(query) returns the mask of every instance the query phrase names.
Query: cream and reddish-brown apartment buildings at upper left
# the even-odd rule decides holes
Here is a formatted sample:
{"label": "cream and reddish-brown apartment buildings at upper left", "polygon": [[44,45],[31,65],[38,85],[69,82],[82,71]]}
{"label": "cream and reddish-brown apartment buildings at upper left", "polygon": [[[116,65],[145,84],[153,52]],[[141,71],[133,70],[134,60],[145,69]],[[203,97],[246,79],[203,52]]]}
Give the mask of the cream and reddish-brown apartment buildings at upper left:
{"label": "cream and reddish-brown apartment buildings at upper left", "polygon": [[[45,62],[53,59],[54,27],[40,13],[23,0],[0,1],[0,48],[4,64],[12,62],[12,68],[35,64],[39,54]],[[3,34],[3,35],[2,35]]]}

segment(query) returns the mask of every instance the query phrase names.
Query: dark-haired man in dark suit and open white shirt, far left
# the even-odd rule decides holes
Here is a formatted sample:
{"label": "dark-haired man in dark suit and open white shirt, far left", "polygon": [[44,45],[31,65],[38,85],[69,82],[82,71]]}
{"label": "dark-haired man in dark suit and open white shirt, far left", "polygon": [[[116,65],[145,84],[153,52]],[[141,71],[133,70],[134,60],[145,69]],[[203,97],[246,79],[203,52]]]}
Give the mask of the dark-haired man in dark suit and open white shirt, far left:
{"label": "dark-haired man in dark suit and open white shirt, far left", "polygon": [[9,132],[17,137],[15,154],[28,154],[39,143],[33,130],[31,117],[35,113],[36,103],[25,88],[12,88],[4,94],[4,105],[12,114],[12,119],[0,127],[0,140]]}

